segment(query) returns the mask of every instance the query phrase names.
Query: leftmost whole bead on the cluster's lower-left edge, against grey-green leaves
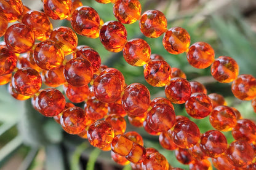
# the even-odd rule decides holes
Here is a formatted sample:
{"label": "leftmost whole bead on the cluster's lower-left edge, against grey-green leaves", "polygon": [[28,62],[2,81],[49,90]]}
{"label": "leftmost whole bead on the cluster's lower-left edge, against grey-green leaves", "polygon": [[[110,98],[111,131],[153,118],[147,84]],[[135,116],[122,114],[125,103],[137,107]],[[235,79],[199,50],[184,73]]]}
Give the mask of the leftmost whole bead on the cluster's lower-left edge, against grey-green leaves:
{"label": "leftmost whole bead on the cluster's lower-left edge, against grey-green leaves", "polygon": [[32,68],[18,69],[12,77],[12,87],[21,95],[34,95],[42,85],[38,71]]}

